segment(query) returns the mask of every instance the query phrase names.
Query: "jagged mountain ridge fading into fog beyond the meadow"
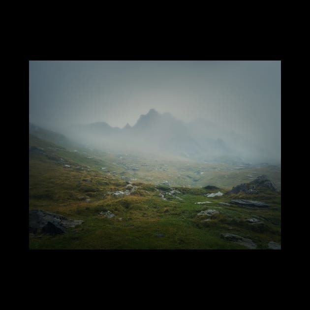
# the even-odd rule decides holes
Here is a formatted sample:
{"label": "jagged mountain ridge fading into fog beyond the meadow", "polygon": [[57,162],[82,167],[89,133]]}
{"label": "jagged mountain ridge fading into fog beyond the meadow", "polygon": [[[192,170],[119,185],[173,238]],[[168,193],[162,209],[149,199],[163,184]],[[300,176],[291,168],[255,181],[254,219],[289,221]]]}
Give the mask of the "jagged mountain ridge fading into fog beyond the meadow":
{"label": "jagged mountain ridge fading into fog beyond the meadow", "polygon": [[251,141],[214,122],[197,119],[186,123],[155,109],[123,129],[102,122],[75,125],[68,135],[105,150],[160,152],[196,160],[238,163],[264,153]]}

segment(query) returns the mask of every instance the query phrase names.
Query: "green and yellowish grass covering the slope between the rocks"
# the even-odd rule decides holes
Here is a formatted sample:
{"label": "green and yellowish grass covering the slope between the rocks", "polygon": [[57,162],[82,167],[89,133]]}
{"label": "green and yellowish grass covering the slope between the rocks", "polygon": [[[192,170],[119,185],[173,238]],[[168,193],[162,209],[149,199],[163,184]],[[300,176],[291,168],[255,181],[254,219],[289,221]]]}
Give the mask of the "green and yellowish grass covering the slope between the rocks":
{"label": "green and yellowish grass covering the slope between the rocks", "polygon": [[[203,177],[198,177],[193,171],[198,170],[203,163],[191,162],[187,165],[188,162],[169,160],[152,162],[132,155],[120,158],[91,150],[85,152],[87,154],[84,154],[85,150],[70,152],[55,149],[59,147],[31,135],[30,145],[44,148],[45,154],[30,153],[29,208],[84,220],[82,225],[68,229],[63,235],[30,234],[31,249],[246,249],[221,239],[221,233],[250,238],[259,249],[267,248],[269,241],[280,243],[280,193],[266,192],[248,196],[225,194],[210,198],[204,196],[210,191],[184,184],[192,180],[185,179],[190,173],[201,178],[197,181],[201,186],[219,186],[222,192],[244,182],[239,181],[240,172],[231,173],[229,178],[225,178],[221,169],[233,169],[227,165],[209,164],[210,173],[205,169]],[[65,168],[64,164],[70,167]],[[129,164],[136,164],[139,171],[125,169]],[[160,167],[165,164],[168,170],[162,171]],[[102,167],[107,167],[106,170],[111,174],[102,171]],[[275,176],[278,172],[272,173]],[[137,188],[129,196],[114,198],[108,192],[126,188],[122,176],[137,179],[131,181]],[[226,183],[218,182],[222,178]],[[92,182],[83,181],[86,179]],[[170,186],[181,192],[177,196],[183,200],[169,195],[166,195],[168,200],[163,200],[158,196],[159,190],[169,191],[167,186],[154,184],[164,180],[168,180]],[[193,184],[195,181],[191,182]],[[91,201],[86,202],[86,198]],[[234,198],[260,200],[269,203],[270,207],[247,209],[218,204]],[[199,201],[212,203],[195,204]],[[211,221],[203,221],[209,217],[197,216],[197,213],[205,209],[216,209],[220,213],[211,217]],[[99,215],[101,211],[111,211],[115,217],[103,217]],[[265,225],[248,224],[245,219],[250,217],[259,218]],[[158,237],[158,234],[164,237]]]}

